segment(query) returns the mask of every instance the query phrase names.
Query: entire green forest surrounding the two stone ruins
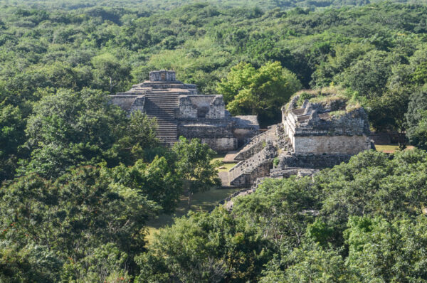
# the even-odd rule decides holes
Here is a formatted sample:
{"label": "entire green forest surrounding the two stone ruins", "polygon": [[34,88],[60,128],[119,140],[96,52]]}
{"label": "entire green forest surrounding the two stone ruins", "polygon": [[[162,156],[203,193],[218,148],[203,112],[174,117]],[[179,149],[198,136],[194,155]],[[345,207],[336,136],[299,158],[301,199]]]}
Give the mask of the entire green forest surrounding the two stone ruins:
{"label": "entire green forest surrounding the two stone ruins", "polygon": [[266,181],[147,245],[147,220],[218,184],[214,152],[107,97],[173,69],[267,125],[337,87],[427,149],[426,1],[380,2],[0,1],[0,281],[425,282],[425,151]]}

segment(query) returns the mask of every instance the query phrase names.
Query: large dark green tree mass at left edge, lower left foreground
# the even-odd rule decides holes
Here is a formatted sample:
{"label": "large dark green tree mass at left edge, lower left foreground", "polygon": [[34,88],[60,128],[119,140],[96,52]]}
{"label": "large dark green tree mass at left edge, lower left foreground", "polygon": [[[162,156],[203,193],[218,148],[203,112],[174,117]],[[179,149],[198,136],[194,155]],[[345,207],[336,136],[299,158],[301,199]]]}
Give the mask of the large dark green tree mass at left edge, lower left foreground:
{"label": "large dark green tree mass at left edge, lower left foreground", "polygon": [[5,241],[42,245],[73,261],[109,242],[133,258],[144,249],[145,222],[159,209],[93,166],[74,169],[54,182],[36,174],[23,176],[6,183],[0,196]]}

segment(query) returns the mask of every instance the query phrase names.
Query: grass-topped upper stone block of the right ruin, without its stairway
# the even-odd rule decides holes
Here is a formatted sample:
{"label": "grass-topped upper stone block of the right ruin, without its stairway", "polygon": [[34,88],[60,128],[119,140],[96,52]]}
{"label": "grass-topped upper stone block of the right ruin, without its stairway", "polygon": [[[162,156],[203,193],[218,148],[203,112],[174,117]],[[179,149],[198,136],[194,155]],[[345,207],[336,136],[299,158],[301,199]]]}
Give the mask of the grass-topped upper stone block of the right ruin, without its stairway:
{"label": "grass-topped upper stone block of the right ruin, without its stairway", "polygon": [[350,112],[343,100],[295,107],[299,96],[283,108],[283,126],[294,154],[358,154],[371,148],[369,123],[362,107]]}

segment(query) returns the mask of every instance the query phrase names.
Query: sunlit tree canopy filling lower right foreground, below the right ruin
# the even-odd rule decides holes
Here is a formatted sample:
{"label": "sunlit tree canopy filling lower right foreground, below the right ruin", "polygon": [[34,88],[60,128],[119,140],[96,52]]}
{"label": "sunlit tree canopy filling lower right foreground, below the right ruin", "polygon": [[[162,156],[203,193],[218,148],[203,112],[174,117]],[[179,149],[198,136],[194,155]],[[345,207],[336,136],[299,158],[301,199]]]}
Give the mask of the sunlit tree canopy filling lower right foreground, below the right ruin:
{"label": "sunlit tree canopy filling lower right foreground, below the right ruin", "polygon": [[426,151],[365,151],[314,178],[267,180],[231,213],[162,231],[139,282],[425,282],[426,168]]}

